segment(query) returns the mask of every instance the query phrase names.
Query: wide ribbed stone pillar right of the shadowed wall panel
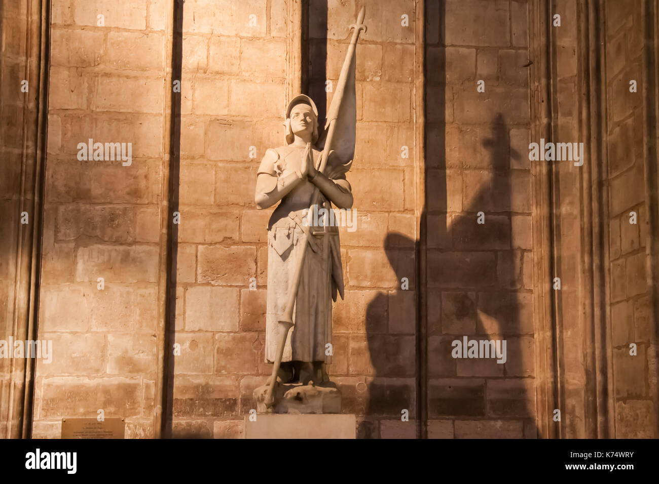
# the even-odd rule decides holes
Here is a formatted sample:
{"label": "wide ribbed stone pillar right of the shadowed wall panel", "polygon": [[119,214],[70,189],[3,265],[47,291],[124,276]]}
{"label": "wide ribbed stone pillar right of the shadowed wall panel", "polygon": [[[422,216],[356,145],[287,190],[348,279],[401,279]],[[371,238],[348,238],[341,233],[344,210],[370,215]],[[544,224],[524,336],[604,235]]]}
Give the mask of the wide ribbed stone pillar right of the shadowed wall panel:
{"label": "wide ribbed stone pillar right of the shadowed wall panel", "polygon": [[[591,53],[598,49],[601,17],[587,3],[537,0],[531,8],[531,141],[585,147],[581,167],[532,162],[538,432],[606,437],[606,425],[596,425],[608,412],[605,202],[598,188],[606,160],[600,149],[602,67]],[[556,14],[561,26],[555,25]],[[560,420],[554,419],[556,410]]]}

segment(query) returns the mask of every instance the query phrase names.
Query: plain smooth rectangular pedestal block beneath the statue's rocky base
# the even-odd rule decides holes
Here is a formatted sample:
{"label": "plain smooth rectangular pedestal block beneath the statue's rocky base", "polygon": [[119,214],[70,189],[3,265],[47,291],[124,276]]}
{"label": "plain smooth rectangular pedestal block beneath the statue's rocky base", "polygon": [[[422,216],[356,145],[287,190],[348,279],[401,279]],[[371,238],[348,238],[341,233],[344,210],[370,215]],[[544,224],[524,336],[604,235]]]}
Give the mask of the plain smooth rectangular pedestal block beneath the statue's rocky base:
{"label": "plain smooth rectangular pedestal block beneath the statue's rocky base", "polygon": [[244,439],[355,439],[354,414],[258,414],[245,416]]}

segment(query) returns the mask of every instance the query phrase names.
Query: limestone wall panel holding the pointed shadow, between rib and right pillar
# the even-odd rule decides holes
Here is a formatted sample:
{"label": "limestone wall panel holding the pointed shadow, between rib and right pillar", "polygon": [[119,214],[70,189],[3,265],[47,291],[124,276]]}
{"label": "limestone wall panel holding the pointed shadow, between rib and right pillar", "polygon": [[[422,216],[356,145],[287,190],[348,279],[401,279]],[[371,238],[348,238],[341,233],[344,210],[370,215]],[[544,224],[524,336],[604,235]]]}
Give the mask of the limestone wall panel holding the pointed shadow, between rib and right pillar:
{"label": "limestone wall panel holding the pointed shadow, between rib and right pillar", "polygon": [[428,437],[535,437],[527,2],[428,8]]}

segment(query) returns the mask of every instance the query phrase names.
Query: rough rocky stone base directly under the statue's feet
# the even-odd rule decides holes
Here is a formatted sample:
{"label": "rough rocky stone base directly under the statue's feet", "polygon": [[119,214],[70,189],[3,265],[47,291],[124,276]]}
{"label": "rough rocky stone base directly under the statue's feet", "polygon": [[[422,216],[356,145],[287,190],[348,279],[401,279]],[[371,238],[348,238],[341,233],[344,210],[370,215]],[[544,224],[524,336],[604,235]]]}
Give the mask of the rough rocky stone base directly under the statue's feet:
{"label": "rough rocky stone base directly under the statue's feet", "polygon": [[275,404],[266,407],[268,385],[254,390],[258,414],[340,414],[341,391],[328,381],[320,385],[275,383]]}

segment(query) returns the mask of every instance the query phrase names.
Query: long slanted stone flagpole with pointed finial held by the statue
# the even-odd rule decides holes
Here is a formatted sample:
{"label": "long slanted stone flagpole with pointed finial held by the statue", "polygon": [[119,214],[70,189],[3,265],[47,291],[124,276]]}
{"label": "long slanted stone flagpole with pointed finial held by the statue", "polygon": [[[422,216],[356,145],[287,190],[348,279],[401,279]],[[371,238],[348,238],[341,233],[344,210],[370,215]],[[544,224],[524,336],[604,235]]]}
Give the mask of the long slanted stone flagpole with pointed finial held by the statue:
{"label": "long slanted stone flagpole with pointed finial held by the statue", "polygon": [[[341,67],[341,74],[339,74],[339,84],[337,90],[334,93],[332,98],[331,105],[329,105],[328,118],[326,122],[326,128],[328,128],[328,135],[325,140],[325,146],[323,148],[323,153],[320,157],[320,167],[318,171],[324,173],[325,168],[327,167],[327,161],[329,157],[329,149],[331,147],[331,142],[334,137],[334,130],[336,126],[337,118],[339,117],[339,107],[341,107],[341,99],[343,99],[343,92],[345,91],[345,85],[347,84],[348,71],[350,65],[353,62],[353,57],[355,55],[355,46],[357,45],[357,40],[359,39],[359,34],[362,30],[366,32],[366,26],[364,25],[364,14],[366,9],[362,7],[357,16],[357,23],[350,26],[353,29],[353,37],[350,40],[350,45],[348,46],[348,51],[345,55],[345,60],[343,61],[343,67]],[[310,211],[314,211],[314,207],[318,205],[318,199],[320,198],[320,190],[318,187],[314,189],[314,193],[311,197],[312,203],[310,206]],[[312,217],[314,215],[312,214]],[[277,382],[277,373],[279,372],[279,367],[281,367],[281,358],[283,357],[284,345],[286,344],[286,338],[290,329],[293,327],[293,309],[295,308],[295,299],[297,298],[297,290],[300,286],[300,276],[302,274],[302,264],[304,263],[304,255],[306,254],[306,248],[308,244],[308,236],[306,232],[302,234],[303,244],[300,255],[297,259],[295,266],[295,272],[293,273],[293,279],[291,280],[291,287],[289,288],[289,298],[286,304],[283,315],[279,319],[279,339],[277,340],[277,353],[275,354],[275,361],[272,365],[272,375],[270,381],[268,382],[268,392],[266,393],[265,404],[266,407],[272,407],[274,403],[273,392],[275,389],[275,383]]]}

